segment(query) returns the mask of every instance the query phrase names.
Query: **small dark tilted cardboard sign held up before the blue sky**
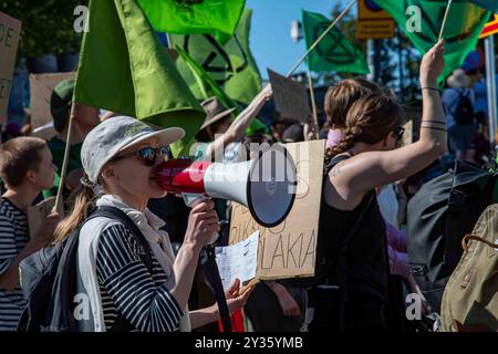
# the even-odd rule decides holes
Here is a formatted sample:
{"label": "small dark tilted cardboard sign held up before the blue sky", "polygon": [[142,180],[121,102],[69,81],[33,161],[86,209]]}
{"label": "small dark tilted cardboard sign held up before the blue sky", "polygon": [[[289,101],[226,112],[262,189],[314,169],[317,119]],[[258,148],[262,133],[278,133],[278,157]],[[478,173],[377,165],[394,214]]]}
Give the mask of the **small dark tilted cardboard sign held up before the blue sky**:
{"label": "small dark tilted cardboard sign held up before the blue sky", "polygon": [[311,110],[307,87],[271,70],[268,70],[268,74],[273,88],[276,110],[281,117],[308,123]]}

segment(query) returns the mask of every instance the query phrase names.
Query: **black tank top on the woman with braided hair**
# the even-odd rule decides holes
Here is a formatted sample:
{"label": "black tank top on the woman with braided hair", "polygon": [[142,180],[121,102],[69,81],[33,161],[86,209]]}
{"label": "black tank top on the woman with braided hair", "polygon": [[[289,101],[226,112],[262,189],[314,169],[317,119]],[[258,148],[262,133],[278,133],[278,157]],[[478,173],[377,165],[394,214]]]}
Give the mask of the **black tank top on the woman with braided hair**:
{"label": "black tank top on the woman with braided hair", "polygon": [[[326,171],[347,158],[338,156]],[[369,191],[351,211],[335,209],[322,198],[319,232],[322,254],[330,262],[329,283],[339,284],[341,272],[345,275],[347,303],[387,303],[386,229],[375,190]]]}

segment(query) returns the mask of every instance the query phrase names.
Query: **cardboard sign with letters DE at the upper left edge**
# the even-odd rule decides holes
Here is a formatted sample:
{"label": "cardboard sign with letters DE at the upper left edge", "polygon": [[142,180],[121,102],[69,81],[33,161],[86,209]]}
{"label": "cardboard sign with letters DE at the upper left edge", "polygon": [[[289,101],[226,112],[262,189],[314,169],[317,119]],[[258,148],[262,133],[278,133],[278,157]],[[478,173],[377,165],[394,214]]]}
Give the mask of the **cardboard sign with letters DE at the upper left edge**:
{"label": "cardboard sign with letters DE at the upper left edge", "polygon": [[7,121],[20,34],[21,21],[0,12],[0,124]]}

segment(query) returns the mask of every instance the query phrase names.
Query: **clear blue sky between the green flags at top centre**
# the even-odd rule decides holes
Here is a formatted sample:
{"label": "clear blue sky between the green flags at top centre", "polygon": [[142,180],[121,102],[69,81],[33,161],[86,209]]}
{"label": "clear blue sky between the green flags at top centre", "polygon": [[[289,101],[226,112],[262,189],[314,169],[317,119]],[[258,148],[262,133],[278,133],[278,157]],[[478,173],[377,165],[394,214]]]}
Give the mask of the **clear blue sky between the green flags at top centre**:
{"label": "clear blue sky between the green flags at top centre", "polygon": [[[261,76],[268,77],[267,67],[282,75],[295,64],[304,53],[304,41],[292,42],[290,24],[301,20],[301,9],[320,12],[330,17],[335,3],[346,6],[347,0],[247,0],[246,7],[252,9],[250,44]],[[353,7],[352,11],[356,11]],[[298,71],[305,70],[302,64]]]}

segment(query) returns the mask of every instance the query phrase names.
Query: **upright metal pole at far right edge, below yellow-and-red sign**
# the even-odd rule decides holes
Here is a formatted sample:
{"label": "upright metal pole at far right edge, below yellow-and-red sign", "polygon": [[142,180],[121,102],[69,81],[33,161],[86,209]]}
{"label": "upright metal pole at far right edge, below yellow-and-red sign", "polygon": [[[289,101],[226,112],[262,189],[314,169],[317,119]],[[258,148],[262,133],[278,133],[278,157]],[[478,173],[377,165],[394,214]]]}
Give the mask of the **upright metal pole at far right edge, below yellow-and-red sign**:
{"label": "upright metal pole at far right edge, below yellow-and-red sign", "polygon": [[489,35],[485,40],[486,50],[486,83],[488,91],[488,118],[489,118],[489,142],[492,149],[496,146],[497,133],[497,96],[496,96],[496,60],[495,60],[495,37]]}

